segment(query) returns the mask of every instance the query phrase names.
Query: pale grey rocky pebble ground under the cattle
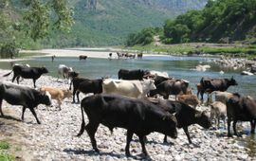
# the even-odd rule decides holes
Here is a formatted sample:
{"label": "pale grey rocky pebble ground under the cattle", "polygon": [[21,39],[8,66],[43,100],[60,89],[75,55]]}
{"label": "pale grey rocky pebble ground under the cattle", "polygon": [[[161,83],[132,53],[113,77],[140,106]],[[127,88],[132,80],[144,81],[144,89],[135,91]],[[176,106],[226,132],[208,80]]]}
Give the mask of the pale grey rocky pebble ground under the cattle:
{"label": "pale grey rocky pebble ground under the cattle", "polygon": [[[0,70],[0,76],[7,72]],[[10,76],[0,79],[10,80]],[[21,83],[32,87],[32,80]],[[41,77],[36,83],[38,86],[68,88],[66,83],[48,76]],[[47,110],[45,105],[39,105],[36,113],[42,122],[40,125],[29,110],[25,121],[21,121],[21,107],[3,101],[3,111],[7,116],[0,116],[0,140],[8,140],[11,145],[19,147],[12,151],[17,160],[255,160],[255,156],[249,155],[251,149],[245,146],[243,138],[247,137],[246,134],[241,139],[229,138],[226,130],[203,130],[197,125],[189,128],[191,145],[182,129],[178,130],[177,139],[169,138],[168,144],[162,143],[163,134],[149,134],[146,148],[151,157],[147,158],[141,155],[137,136],[134,136],[130,148],[133,157],[127,158],[124,152],[126,131],[115,129],[111,134],[106,127],[100,126],[96,138],[101,152],[97,153],[92,150],[86,133],[76,136],[82,122],[81,109],[79,104],[71,101],[71,98],[64,99],[61,111],[55,107]],[[56,105],[56,101],[53,103]],[[87,118],[85,121],[88,122]]]}

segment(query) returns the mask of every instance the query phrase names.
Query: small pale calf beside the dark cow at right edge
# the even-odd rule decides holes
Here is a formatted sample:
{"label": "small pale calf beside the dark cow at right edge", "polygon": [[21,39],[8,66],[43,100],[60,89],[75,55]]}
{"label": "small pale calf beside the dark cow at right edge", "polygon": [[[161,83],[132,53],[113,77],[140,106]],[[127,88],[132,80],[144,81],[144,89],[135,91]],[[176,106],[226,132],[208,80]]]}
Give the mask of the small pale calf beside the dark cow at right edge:
{"label": "small pale calf beside the dark cow at right edge", "polygon": [[223,120],[224,128],[225,127],[225,119],[227,116],[227,106],[221,101],[214,101],[210,104],[210,119],[214,119],[215,124],[217,123],[217,128],[220,127],[220,119]]}

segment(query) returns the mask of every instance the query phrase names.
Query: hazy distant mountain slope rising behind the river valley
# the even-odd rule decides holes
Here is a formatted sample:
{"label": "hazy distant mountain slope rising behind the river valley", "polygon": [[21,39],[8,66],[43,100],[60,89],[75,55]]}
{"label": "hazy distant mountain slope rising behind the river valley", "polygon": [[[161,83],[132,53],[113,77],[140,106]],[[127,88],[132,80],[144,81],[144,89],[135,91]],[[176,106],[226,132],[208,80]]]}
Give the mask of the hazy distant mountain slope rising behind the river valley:
{"label": "hazy distant mountain slope rising behind the river valley", "polygon": [[202,9],[208,0],[70,0],[75,22],[72,31],[51,33],[42,43],[51,47],[120,45],[143,27],[161,27],[164,21],[189,9]]}

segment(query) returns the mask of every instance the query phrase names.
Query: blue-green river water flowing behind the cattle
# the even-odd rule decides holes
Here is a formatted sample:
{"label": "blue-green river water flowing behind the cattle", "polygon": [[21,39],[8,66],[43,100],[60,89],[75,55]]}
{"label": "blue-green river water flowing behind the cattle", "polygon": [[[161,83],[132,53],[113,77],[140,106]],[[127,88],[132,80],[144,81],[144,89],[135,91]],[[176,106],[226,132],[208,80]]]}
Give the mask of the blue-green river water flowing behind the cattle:
{"label": "blue-green river water flowing behind the cattle", "polygon": [[[229,87],[229,92],[238,92],[244,96],[251,96],[256,98],[256,77],[255,76],[242,76],[240,75],[242,69],[233,70],[230,68],[224,68],[212,62],[212,58],[202,57],[173,57],[173,56],[155,56],[155,57],[143,57],[142,60],[133,59],[97,59],[87,58],[86,61],[80,61],[78,57],[57,57],[54,62],[51,62],[51,58],[42,57],[34,58],[28,61],[19,61],[17,63],[28,63],[30,66],[46,66],[49,70],[48,75],[57,77],[57,71],[59,64],[66,64],[72,66],[75,71],[78,71],[82,77],[88,79],[99,79],[101,77],[111,77],[113,79],[118,78],[118,72],[120,68],[124,69],[147,69],[164,71],[169,74],[170,77],[176,79],[184,79],[190,81],[190,87],[193,92],[195,91],[195,84],[198,83],[202,77],[210,78],[231,78],[234,77],[238,81],[237,86]],[[210,64],[210,69],[205,72],[199,72],[194,70],[197,64]],[[11,69],[13,63],[0,63],[0,68]],[[224,74],[220,74],[220,71],[224,71]],[[3,75],[3,74],[1,74]],[[244,129],[245,134],[248,134],[250,127],[247,126]],[[223,130],[227,132],[227,130]],[[238,138],[240,140],[240,138]],[[242,139],[242,138],[241,138]],[[250,155],[255,156],[256,142],[254,135],[248,135],[247,138],[243,138],[243,143],[248,149],[250,149]]]}

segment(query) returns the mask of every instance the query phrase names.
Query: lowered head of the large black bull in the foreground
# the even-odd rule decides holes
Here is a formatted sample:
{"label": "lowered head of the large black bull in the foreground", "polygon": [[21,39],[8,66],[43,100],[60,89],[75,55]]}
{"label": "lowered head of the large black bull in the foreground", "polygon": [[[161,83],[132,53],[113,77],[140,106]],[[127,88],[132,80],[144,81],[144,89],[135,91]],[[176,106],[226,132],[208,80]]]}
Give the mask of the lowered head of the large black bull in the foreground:
{"label": "lowered head of the large black bull in the foreground", "polygon": [[162,117],[163,122],[161,123],[160,128],[164,134],[167,134],[173,138],[177,138],[177,119],[172,114],[166,114]]}

